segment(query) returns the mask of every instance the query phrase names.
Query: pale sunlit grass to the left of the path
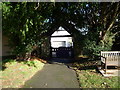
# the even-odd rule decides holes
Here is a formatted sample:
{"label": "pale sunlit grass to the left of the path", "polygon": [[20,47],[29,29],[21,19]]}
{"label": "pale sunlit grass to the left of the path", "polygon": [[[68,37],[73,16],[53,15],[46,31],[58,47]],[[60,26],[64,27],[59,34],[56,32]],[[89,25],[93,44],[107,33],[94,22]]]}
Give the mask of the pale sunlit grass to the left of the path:
{"label": "pale sunlit grass to the left of the path", "polygon": [[40,61],[17,62],[9,60],[5,63],[2,74],[2,88],[21,88],[25,81],[29,80],[37,71],[43,68]]}

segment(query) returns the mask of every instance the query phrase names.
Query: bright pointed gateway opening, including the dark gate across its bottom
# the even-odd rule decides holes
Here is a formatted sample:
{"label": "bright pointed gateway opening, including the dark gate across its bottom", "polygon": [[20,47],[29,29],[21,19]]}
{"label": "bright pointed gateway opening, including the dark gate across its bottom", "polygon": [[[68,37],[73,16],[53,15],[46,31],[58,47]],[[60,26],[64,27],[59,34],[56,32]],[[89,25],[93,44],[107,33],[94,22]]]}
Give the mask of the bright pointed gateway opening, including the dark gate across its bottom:
{"label": "bright pointed gateway opening, including the dark gate across its bottom", "polygon": [[63,27],[59,27],[51,35],[51,57],[73,58],[72,36]]}

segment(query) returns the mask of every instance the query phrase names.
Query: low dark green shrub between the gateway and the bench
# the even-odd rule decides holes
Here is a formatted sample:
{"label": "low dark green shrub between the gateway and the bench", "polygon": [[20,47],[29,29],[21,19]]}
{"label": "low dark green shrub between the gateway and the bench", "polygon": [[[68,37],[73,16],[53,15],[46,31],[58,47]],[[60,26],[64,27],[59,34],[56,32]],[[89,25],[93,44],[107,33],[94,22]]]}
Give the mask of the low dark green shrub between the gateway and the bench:
{"label": "low dark green shrub between the gateway and the bench", "polygon": [[99,56],[100,51],[111,50],[112,45],[113,45],[112,40],[107,43],[104,43],[103,45],[102,42],[97,43],[96,40],[90,40],[87,38],[84,42],[83,54],[93,58],[95,56]]}

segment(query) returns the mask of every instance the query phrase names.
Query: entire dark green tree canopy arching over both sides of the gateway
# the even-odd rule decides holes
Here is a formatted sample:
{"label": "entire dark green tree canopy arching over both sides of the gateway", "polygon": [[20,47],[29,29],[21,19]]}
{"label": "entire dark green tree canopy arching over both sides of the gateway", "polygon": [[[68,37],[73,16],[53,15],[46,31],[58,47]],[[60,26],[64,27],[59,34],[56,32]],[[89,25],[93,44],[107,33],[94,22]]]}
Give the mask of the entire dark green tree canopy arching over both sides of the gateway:
{"label": "entire dark green tree canopy arching over both sides of the gateway", "polygon": [[[119,3],[4,2],[2,7],[3,33],[17,55],[32,52],[33,46],[40,47],[44,34],[50,35],[48,31],[53,32],[51,28],[59,25],[75,34],[76,48],[90,55],[111,50],[119,31],[119,22],[115,22],[120,17]],[[76,31],[85,27],[87,31]]]}

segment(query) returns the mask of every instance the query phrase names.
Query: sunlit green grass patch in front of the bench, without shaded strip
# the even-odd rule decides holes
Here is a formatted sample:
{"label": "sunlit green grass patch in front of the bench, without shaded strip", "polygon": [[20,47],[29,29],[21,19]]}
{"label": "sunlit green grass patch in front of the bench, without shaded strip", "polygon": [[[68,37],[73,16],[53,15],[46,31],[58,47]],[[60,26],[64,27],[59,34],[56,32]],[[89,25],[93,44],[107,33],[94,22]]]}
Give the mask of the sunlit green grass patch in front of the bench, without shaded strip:
{"label": "sunlit green grass patch in front of the bench, without shaded strip", "polygon": [[80,70],[78,74],[82,88],[118,88],[118,77],[106,78],[95,70]]}

